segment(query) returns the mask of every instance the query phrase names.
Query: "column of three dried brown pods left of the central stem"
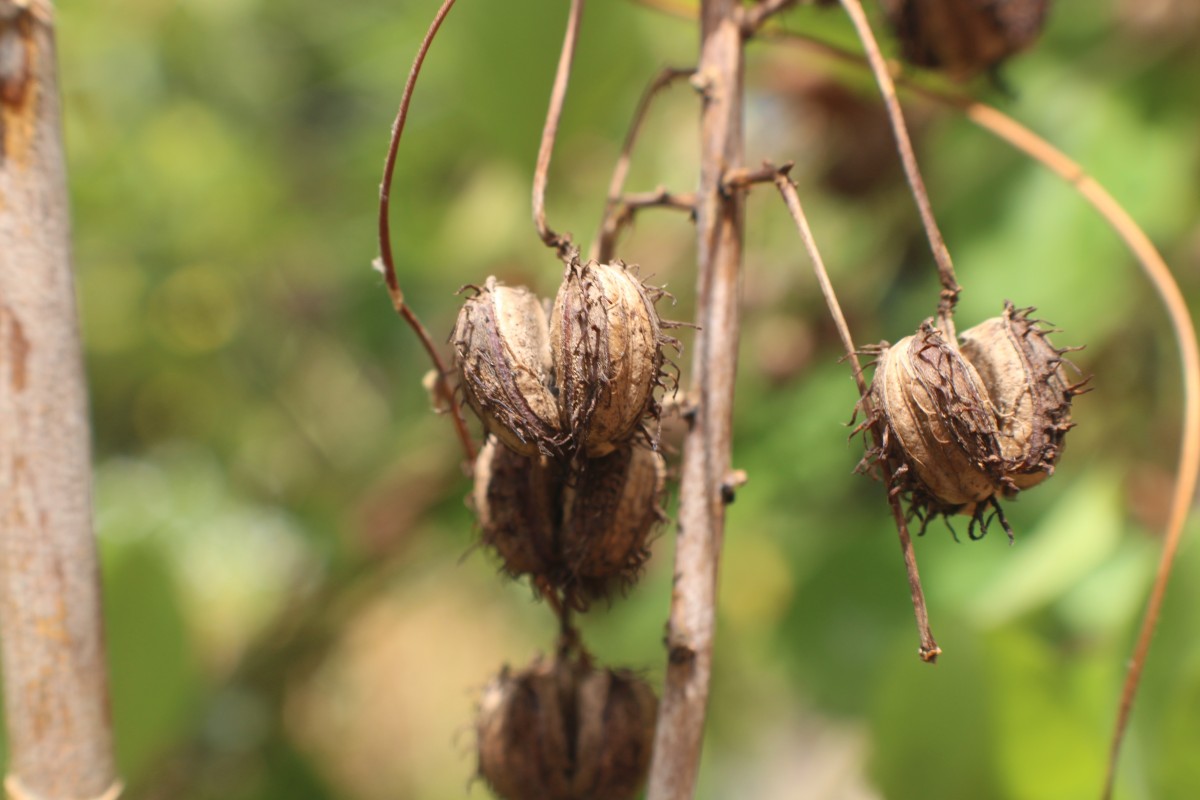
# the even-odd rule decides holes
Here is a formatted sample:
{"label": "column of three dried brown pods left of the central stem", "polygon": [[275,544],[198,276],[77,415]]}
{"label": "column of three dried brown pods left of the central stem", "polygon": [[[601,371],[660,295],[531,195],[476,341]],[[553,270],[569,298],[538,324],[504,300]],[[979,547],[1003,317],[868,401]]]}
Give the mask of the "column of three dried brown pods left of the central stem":
{"label": "column of three dried brown pods left of the central stem", "polygon": [[[472,501],[485,546],[562,615],[630,585],[664,519],[658,452],[662,291],[620,263],[569,259],[553,305],[488,278],[451,342],[462,396],[487,431]],[[656,700],[593,667],[564,632],[553,662],[508,669],[476,722],[479,770],[508,800],[634,798]]]}

